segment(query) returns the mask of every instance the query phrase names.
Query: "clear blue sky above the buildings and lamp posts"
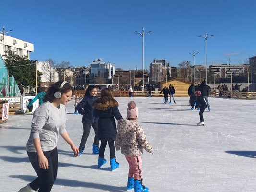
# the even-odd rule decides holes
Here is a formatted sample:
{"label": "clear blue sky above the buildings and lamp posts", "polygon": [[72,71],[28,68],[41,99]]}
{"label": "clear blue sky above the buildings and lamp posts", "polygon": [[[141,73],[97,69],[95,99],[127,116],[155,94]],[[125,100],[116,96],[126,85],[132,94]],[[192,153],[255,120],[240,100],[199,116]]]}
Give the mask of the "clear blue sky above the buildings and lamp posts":
{"label": "clear blue sky above the buildings and lamp posts", "polygon": [[95,58],[122,69],[142,69],[154,59],[171,66],[244,64],[256,55],[255,0],[4,0],[0,28],[34,44],[30,59],[89,66]]}

